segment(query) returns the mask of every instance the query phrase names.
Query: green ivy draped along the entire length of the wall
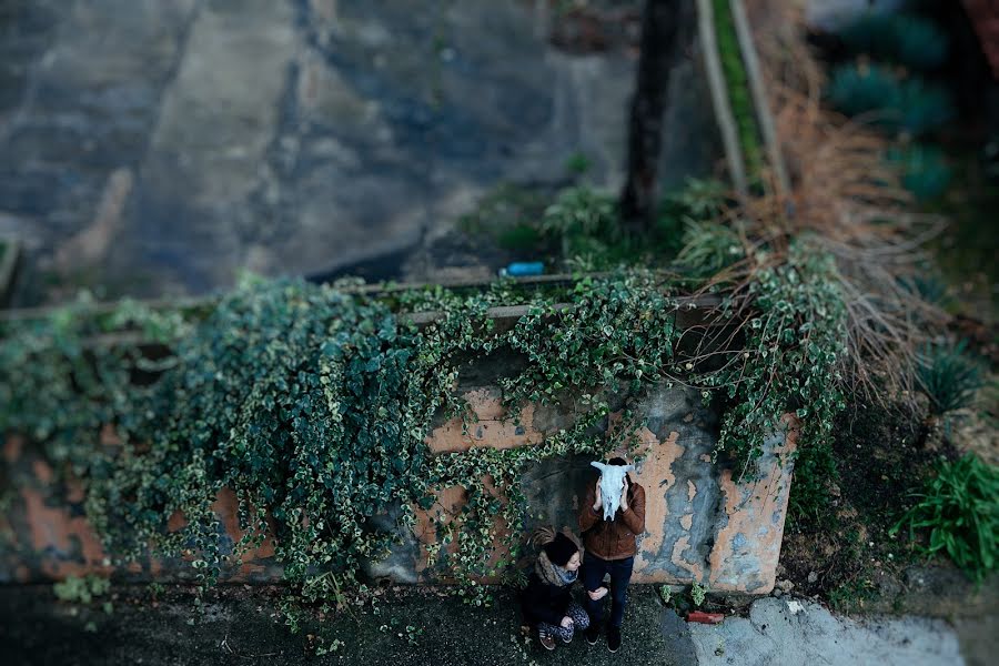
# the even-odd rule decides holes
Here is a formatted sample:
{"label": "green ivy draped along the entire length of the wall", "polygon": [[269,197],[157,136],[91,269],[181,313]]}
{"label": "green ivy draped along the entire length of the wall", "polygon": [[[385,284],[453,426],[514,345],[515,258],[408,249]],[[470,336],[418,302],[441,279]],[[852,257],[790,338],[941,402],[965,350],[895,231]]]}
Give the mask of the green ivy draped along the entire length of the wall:
{"label": "green ivy draped along the entire length of the wall", "polygon": [[[722,309],[745,317],[745,351],[709,371],[679,365],[680,300],[642,270],[545,291],[501,281],[382,297],[351,284],[248,280],[186,314],[125,303],[93,316],[83,302],[3,324],[0,431],[43,443],[53,465],[84,480],[89,519],[123,561],[150,548],[185,557],[209,586],[272,536],[296,591],[285,604],[293,627],[296,602],[334,607],[365,588],[365,563],[422,538],[418,512],[434,521],[422,544],[431,566],[483,604],[490,595],[477,582],[521,555],[523,472],[634,445],[642,421],[632,405],[677,381],[678,369],[685,383],[730,401],[723,448],[751,458],[788,405],[803,432],[825,436],[839,400],[831,270],[804,246],[761,269],[753,316],[733,301]],[[523,314],[497,326],[491,309],[512,304]],[[528,404],[571,404],[564,427],[532,446],[432,455],[435,424],[474,425],[460,379],[495,354],[515,360],[497,380],[507,418],[517,422]],[[101,436],[109,427],[110,441]],[[436,511],[455,486],[464,490],[456,515]],[[223,488],[236,500],[235,544],[213,509]]]}

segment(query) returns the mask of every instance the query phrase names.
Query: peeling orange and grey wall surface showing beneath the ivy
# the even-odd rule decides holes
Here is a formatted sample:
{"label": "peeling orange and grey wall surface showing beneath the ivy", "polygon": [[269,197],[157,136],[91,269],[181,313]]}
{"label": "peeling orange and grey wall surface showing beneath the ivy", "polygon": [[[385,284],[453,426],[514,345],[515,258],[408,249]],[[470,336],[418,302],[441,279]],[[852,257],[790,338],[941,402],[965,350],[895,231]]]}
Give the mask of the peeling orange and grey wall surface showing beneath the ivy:
{"label": "peeling orange and grey wall surface showing beneath the ivy", "polygon": [[[497,367],[502,367],[498,364]],[[464,451],[472,446],[531,446],[546,434],[568,426],[572,408],[528,406],[521,424],[503,421],[501,394],[495,384],[482,384],[492,373],[470,373],[477,385],[462,385],[478,416],[470,432],[461,423],[441,423],[427,438],[435,453]],[[494,377],[495,379],[495,377]],[[564,404],[572,404],[564,401]],[[766,447],[753,481],[738,481],[739,471],[712,462],[717,415],[702,405],[700,394],[685,389],[658,389],[637,405],[646,427],[639,433],[645,458],[633,480],[646,490],[646,528],[640,537],[634,579],[639,583],[689,583],[710,589],[768,593],[775,582],[790,487],[794,431],[775,435]],[[608,426],[613,426],[612,417]],[[793,425],[788,422],[788,425]],[[157,559],[113,569],[108,555],[83,516],[78,486],[57,484],[52,471],[23,441],[6,442],[3,458],[8,486],[13,491],[0,517],[0,582],[61,578],[87,572],[115,573],[125,579],[184,578],[193,569],[182,559]],[[529,502],[526,534],[538,525],[577,531],[576,512],[587,484],[596,472],[588,456],[546,460],[524,471],[522,490]],[[748,476],[748,475],[747,475]],[[490,492],[496,493],[486,481]],[[430,512],[417,511],[413,533],[401,534],[402,544],[384,561],[370,563],[367,573],[398,582],[447,582],[442,565],[427,566],[427,545],[437,539],[432,516],[447,521],[464,502],[464,488],[444,488]],[[241,536],[232,493],[220,494],[223,552]],[[374,516],[376,528],[394,529],[400,507]],[[174,516],[170,528],[182,524]],[[497,522],[496,527],[506,526]],[[452,544],[453,548],[454,544]],[[492,554],[495,562],[506,555]],[[265,542],[240,567],[223,574],[231,581],[269,581],[280,577],[273,544]]]}

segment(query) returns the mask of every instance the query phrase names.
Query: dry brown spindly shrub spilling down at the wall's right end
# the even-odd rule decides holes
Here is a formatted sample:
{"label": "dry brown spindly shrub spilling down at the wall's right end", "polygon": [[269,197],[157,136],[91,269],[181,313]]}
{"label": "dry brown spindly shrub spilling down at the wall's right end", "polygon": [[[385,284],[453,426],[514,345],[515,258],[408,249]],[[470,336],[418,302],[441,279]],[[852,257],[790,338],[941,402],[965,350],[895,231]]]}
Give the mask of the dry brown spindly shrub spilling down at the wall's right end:
{"label": "dry brown spindly shrub spilling down at the wall's right end", "polygon": [[[780,261],[791,238],[808,234],[837,259],[848,313],[847,391],[868,400],[912,395],[917,350],[947,315],[906,287],[930,264],[924,248],[945,220],[916,214],[898,173],[885,161],[886,139],[821,103],[823,67],[805,40],[800,12],[780,0],[747,2],[789,192],[769,183],[765,196],[730,211],[747,250],[766,243]],[[741,262],[718,276],[738,295],[760,266]]]}

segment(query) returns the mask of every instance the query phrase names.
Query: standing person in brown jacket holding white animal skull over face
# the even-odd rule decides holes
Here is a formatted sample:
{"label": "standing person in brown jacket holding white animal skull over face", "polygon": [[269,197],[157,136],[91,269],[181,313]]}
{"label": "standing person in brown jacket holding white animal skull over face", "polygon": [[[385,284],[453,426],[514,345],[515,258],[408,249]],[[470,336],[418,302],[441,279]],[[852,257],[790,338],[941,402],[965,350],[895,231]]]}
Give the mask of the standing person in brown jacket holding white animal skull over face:
{"label": "standing person in brown jacket holding white animal skull over face", "polygon": [[[607,461],[610,465],[627,465],[620,457]],[[596,644],[604,617],[603,598],[607,594],[604,576],[610,574],[610,624],[607,626],[607,647],[620,647],[620,625],[627,601],[628,582],[635,565],[638,546],[635,537],[645,532],[645,488],[625,476],[620,492],[620,507],[610,521],[604,519],[601,481],[587,486],[586,498],[579,509],[579,531],[586,554],[583,557],[583,586],[588,598],[586,612],[591,624],[586,642]]]}

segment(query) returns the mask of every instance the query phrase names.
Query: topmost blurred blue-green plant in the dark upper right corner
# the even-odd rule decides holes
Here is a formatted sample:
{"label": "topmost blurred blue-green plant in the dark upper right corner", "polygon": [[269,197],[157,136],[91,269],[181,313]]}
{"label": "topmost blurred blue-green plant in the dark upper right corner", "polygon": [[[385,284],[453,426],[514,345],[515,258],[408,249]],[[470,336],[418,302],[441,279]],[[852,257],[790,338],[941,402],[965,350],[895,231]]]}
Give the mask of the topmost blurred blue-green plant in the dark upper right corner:
{"label": "topmost blurred blue-green plant in the dark upper right corner", "polygon": [[936,23],[905,13],[868,12],[840,29],[839,37],[854,53],[912,69],[941,65],[950,46]]}

